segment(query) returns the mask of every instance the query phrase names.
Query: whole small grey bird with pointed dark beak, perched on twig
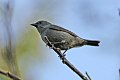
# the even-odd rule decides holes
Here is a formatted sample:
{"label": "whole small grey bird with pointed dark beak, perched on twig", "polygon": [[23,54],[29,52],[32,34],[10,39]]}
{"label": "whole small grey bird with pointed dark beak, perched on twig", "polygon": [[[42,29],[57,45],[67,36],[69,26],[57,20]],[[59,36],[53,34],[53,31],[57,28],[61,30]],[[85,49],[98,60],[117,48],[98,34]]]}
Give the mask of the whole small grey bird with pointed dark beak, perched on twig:
{"label": "whole small grey bird with pointed dark beak, perched on twig", "polygon": [[56,49],[64,50],[64,53],[74,47],[81,47],[84,45],[99,46],[100,43],[98,40],[80,38],[75,33],[47,21],[38,21],[31,25],[37,28],[42,40],[46,44],[48,43],[47,40],[49,40]]}

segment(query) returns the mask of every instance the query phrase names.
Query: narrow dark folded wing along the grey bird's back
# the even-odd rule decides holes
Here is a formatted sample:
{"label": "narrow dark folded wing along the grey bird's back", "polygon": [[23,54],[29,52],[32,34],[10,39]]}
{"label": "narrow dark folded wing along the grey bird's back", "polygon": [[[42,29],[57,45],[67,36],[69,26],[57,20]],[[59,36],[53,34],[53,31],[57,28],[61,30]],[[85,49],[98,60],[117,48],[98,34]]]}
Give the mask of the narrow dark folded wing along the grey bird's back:
{"label": "narrow dark folded wing along the grey bird's back", "polygon": [[57,26],[57,25],[51,25],[51,27],[49,29],[57,30],[57,31],[63,31],[63,32],[69,33],[72,36],[78,37],[75,33],[71,32],[71,31],[69,31],[65,28],[62,28],[60,26]]}

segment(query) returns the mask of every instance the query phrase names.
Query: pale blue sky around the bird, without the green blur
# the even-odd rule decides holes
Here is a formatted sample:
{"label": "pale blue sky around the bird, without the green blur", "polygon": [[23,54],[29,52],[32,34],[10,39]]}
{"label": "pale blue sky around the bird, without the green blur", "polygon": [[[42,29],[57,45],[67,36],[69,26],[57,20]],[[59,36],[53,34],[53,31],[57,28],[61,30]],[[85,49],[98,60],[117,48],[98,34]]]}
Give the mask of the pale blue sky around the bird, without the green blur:
{"label": "pale blue sky around the bird, without the green blur", "polygon": [[[0,5],[4,2],[0,0]],[[92,80],[119,80],[118,8],[120,0],[15,0],[13,31],[15,37],[20,38],[31,23],[46,20],[82,38],[100,40],[99,47],[74,48],[66,52],[66,57],[82,73],[87,71]],[[79,80],[78,75],[62,64],[58,55],[41,39],[39,48],[44,49],[44,60],[42,63],[31,61],[26,76],[32,80]]]}

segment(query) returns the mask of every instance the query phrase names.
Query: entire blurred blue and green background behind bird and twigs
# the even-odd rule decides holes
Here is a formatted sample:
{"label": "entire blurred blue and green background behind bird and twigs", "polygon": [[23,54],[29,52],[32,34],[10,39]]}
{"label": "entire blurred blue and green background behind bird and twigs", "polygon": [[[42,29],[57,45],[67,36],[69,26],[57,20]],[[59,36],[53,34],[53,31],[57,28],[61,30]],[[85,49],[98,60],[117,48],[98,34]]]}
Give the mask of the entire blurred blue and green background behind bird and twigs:
{"label": "entire blurred blue and green background behind bird and twigs", "polygon": [[[30,24],[46,20],[99,47],[66,53],[68,60],[93,80],[119,80],[120,0],[0,0],[0,70],[24,80],[79,80],[41,40]],[[0,80],[7,80],[0,75]]]}

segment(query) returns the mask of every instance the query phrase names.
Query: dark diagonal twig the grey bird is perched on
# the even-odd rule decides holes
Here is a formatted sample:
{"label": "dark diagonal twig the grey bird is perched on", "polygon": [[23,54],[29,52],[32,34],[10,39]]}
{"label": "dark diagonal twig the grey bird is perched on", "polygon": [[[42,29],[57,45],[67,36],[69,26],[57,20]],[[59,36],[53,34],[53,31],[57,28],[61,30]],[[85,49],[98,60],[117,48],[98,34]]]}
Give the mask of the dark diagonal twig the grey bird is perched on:
{"label": "dark diagonal twig the grey bird is perched on", "polygon": [[86,76],[84,76],[77,68],[75,68],[74,65],[72,65],[65,57],[64,54],[61,53],[60,50],[56,49],[47,39],[47,37],[45,37],[45,39],[48,42],[48,46],[51,47],[60,57],[60,59],[62,60],[63,64],[66,64],[71,70],[73,70],[80,78],[82,78],[82,80],[89,80]]}

